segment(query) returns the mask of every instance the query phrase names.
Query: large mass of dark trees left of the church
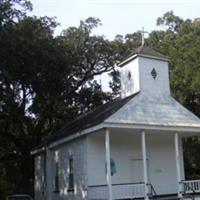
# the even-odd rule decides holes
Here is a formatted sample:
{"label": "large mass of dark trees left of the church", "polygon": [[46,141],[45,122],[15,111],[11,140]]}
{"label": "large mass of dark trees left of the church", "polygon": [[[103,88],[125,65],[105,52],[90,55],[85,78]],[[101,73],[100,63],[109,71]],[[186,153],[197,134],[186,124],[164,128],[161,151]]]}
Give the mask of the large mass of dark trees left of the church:
{"label": "large mass of dark trees left of the church", "polygon": [[32,192],[30,150],[34,146],[66,121],[112,98],[94,76],[114,65],[110,42],[91,35],[100,24],[98,19],[81,21],[79,27],[54,37],[54,19],[27,17],[15,10],[15,2],[22,3],[3,2],[9,5],[4,13],[13,13],[1,16],[0,30],[0,190],[4,196]]}

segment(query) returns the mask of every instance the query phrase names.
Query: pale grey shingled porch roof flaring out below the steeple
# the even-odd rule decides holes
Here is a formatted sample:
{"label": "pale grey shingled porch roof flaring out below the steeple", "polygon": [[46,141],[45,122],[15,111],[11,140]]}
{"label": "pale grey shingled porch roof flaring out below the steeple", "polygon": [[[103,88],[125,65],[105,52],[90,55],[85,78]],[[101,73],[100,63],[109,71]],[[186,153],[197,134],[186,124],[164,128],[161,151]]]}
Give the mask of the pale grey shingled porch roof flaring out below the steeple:
{"label": "pale grey shingled porch roof flaring out below the steeple", "polygon": [[116,113],[107,123],[199,128],[200,119],[172,96],[140,93]]}

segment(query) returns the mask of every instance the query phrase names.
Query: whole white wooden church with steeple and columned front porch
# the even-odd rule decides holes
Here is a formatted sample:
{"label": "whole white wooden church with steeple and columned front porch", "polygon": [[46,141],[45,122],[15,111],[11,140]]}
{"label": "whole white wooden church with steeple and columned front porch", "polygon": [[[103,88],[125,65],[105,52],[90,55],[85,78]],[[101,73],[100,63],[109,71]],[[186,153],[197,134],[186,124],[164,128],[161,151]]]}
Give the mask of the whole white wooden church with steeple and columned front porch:
{"label": "whole white wooden church with steeple and columned front porch", "polygon": [[170,95],[169,58],[147,46],[120,63],[121,98],[33,150],[35,200],[189,198],[181,139],[200,119]]}

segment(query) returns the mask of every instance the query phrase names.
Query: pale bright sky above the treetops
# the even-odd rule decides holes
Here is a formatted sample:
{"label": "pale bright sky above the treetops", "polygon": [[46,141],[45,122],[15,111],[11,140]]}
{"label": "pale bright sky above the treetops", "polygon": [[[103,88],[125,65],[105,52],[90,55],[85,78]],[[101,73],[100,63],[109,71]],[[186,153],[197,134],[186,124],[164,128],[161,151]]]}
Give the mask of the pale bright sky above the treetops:
{"label": "pale bright sky above the treetops", "polygon": [[200,17],[200,0],[32,0],[33,15],[57,17],[61,25],[55,34],[69,26],[78,26],[80,20],[98,17],[102,26],[95,34],[113,39],[141,30],[161,29],[156,19],[167,11],[183,19]]}

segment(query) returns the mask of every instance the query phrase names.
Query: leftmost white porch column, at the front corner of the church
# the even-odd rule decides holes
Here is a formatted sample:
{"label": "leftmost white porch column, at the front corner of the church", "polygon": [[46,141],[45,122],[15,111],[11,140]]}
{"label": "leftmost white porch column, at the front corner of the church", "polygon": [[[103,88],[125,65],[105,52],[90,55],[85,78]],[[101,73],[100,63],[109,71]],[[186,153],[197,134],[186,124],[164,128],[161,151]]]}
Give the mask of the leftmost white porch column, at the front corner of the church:
{"label": "leftmost white porch column, at the front corner of the church", "polygon": [[110,133],[106,129],[105,132],[105,148],[106,148],[106,180],[108,185],[108,200],[112,200],[112,182],[111,182],[111,166],[110,166]]}

